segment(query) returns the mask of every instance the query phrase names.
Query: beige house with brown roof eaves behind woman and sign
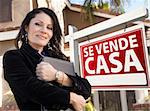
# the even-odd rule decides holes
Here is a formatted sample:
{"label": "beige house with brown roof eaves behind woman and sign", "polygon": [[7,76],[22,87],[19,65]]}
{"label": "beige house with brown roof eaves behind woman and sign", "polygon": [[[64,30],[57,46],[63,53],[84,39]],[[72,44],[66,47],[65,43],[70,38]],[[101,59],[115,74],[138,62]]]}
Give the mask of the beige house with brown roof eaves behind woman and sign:
{"label": "beige house with brown roof eaves behind woman and sign", "polygon": [[[90,23],[83,18],[84,14],[82,13],[82,7],[80,5],[71,4],[68,0],[65,1],[65,4],[66,6],[63,9],[64,35],[69,34],[68,25],[75,26],[78,30],[82,30],[93,24],[103,22],[117,16],[117,14],[110,13],[105,10],[94,11],[94,22]],[[38,0],[1,0],[0,6],[0,11],[3,12],[0,12],[0,75],[2,75],[3,54],[6,50],[15,48],[14,39],[18,33],[19,26],[26,13],[38,6]],[[3,7],[6,7],[6,9]],[[146,20],[142,22],[145,24],[147,41],[150,43],[150,21]],[[65,44],[65,51],[69,50],[68,45],[68,43]],[[150,44],[148,44],[148,50],[150,55]],[[6,82],[3,81],[3,86],[5,84]],[[3,94],[6,94],[9,88],[3,88],[5,88]],[[0,86],[0,98],[2,98],[3,94],[2,86]],[[128,107],[129,109],[132,109],[132,104],[136,103],[135,91],[126,91],[126,95],[128,99]],[[99,98],[98,104],[102,109],[111,108],[114,110],[121,110],[120,91],[99,91],[97,97]],[[2,100],[0,100],[0,103],[2,103]]]}

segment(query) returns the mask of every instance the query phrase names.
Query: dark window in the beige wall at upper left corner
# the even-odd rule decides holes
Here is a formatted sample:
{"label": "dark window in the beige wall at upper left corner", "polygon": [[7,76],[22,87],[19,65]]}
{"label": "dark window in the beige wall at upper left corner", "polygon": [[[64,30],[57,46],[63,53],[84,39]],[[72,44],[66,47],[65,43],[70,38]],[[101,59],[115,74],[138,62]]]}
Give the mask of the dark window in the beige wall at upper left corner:
{"label": "dark window in the beige wall at upper left corner", "polygon": [[12,0],[0,0],[0,22],[12,20]]}

